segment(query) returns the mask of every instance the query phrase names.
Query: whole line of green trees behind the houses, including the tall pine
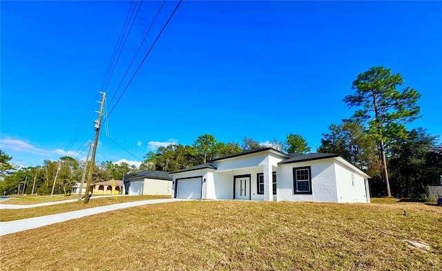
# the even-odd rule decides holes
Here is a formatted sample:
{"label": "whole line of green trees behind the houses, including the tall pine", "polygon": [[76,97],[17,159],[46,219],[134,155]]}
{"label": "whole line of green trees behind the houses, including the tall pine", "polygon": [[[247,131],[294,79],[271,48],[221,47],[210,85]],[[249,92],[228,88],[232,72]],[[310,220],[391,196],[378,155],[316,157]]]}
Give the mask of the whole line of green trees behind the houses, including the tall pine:
{"label": "whole line of green trees behind the houses, including the tall pine", "polygon": [[[416,198],[425,185],[439,185],[442,175],[439,138],[424,128],[407,130],[407,123],[421,117],[416,105],[421,94],[409,87],[398,90],[402,85],[401,74],[392,74],[388,68],[373,67],[358,74],[352,84],[354,94],[343,99],[356,111],[341,123],[332,123],[316,150],[340,154],[367,172],[372,177],[369,183],[374,197]],[[122,179],[138,170],[181,170],[264,146],[287,153],[311,151],[300,134],[289,134],[284,142],[271,139],[265,144],[247,137],[241,144],[224,143],[211,134],[202,134],[191,145],[171,144],[148,152],[139,168],[112,161],[98,163],[94,165],[93,182]],[[46,160],[44,165],[17,170],[11,159],[0,150],[0,193],[50,194],[55,189],[58,194],[66,194],[73,183],[81,180],[85,166],[84,161],[61,157],[59,161]],[[59,181],[53,185],[57,172]]]}

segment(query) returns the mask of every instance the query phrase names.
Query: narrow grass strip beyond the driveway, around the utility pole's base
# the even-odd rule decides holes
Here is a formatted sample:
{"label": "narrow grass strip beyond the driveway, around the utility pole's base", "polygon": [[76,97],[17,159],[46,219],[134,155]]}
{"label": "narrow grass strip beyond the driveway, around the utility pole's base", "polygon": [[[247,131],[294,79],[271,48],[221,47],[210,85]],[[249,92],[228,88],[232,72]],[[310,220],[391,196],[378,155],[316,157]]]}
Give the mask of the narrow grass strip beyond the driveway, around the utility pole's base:
{"label": "narrow grass strip beyond the driveway, around the utility pole's base", "polygon": [[[66,199],[66,197],[64,197]],[[75,197],[77,199],[77,197]],[[18,219],[28,219],[30,217],[41,217],[48,214],[59,214],[61,212],[70,212],[86,208],[110,205],[115,203],[123,203],[129,201],[144,201],[146,199],[170,199],[170,196],[117,196],[115,197],[91,197],[88,204],[83,201],[75,201],[69,203],[59,203],[55,205],[41,206],[35,208],[24,209],[0,209],[0,221],[12,221]],[[6,204],[8,201],[5,201]]]}

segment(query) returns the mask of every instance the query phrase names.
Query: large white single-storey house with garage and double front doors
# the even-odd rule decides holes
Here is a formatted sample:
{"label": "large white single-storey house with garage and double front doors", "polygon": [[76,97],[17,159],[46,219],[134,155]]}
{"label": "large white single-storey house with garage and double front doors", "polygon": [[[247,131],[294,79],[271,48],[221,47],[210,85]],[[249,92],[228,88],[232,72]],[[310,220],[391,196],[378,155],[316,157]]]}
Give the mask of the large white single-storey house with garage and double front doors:
{"label": "large white single-storey house with garage and double front doors", "polygon": [[370,202],[370,177],[338,154],[286,154],[260,148],[171,176],[174,198]]}

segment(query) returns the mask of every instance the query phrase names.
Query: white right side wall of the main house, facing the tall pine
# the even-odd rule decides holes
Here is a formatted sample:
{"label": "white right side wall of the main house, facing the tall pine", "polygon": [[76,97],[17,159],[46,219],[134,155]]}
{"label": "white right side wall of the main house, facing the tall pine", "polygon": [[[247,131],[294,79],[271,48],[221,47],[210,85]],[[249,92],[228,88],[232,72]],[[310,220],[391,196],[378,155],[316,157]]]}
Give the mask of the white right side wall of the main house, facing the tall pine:
{"label": "white right side wall of the main house, facing the tall pine", "polygon": [[356,170],[338,161],[334,163],[334,167],[336,171],[338,202],[369,202],[365,194],[365,178]]}

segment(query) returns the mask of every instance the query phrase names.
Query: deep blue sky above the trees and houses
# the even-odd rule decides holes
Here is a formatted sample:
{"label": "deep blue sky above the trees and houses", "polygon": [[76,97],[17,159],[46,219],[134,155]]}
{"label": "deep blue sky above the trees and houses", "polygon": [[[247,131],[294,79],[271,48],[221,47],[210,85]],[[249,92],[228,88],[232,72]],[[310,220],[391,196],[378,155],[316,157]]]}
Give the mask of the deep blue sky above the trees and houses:
{"label": "deep blue sky above the trees and houses", "polygon": [[[131,3],[0,2],[0,145],[14,163],[86,157],[98,92],[111,110],[177,2],[164,3],[117,88],[162,2],[142,3],[100,89]],[[109,116],[96,160],[141,161],[201,134],[238,143],[301,134],[314,151],[352,115],[343,97],[372,66],[422,94],[410,128],[442,134],[441,1],[183,1]]]}

